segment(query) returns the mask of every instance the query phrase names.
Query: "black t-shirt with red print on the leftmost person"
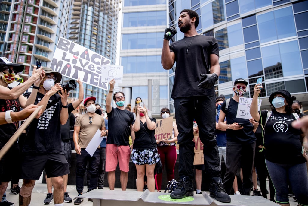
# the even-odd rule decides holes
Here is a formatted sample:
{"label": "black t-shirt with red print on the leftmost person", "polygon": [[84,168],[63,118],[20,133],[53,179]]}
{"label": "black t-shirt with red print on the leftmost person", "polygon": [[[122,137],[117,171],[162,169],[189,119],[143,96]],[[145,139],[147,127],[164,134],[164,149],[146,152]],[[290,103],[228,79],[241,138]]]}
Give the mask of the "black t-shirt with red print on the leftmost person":
{"label": "black t-shirt with red print on the leftmost person", "polygon": [[[12,89],[11,87],[8,87]],[[17,112],[20,110],[20,103],[18,99],[0,99],[0,112],[12,110]],[[0,125],[0,142],[5,145],[6,142],[13,136],[18,129],[18,121],[10,124]]]}

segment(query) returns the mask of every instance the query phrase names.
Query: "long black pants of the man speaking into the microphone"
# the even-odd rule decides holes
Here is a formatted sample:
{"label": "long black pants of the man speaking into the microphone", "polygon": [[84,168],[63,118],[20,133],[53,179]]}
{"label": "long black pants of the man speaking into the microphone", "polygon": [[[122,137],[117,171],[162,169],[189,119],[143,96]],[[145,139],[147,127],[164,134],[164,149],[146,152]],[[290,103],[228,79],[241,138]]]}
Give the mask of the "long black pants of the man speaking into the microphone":
{"label": "long black pants of the man speaking into the microphone", "polygon": [[199,137],[204,144],[204,165],[209,178],[220,177],[221,167],[215,135],[215,97],[195,96],[174,99],[176,126],[179,130],[179,175],[194,179],[193,120],[198,124]]}

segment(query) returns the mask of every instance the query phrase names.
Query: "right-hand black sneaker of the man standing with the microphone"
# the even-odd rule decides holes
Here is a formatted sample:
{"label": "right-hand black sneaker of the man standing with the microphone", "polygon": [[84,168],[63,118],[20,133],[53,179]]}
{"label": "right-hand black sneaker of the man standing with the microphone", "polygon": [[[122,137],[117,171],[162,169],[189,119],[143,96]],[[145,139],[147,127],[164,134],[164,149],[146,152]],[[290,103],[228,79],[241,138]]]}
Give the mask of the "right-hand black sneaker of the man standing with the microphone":
{"label": "right-hand black sneaker of the man standing with the microphone", "polygon": [[230,196],[224,189],[222,180],[220,177],[213,177],[210,184],[210,196],[215,198],[219,202],[229,203],[231,202]]}

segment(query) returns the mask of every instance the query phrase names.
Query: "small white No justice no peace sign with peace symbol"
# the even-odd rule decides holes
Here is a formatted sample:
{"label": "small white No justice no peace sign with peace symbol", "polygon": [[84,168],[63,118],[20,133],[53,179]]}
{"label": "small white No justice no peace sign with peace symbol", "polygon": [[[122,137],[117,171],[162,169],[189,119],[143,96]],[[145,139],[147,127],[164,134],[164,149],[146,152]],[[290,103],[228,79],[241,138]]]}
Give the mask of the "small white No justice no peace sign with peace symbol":
{"label": "small white No justice no peace sign with peace symbol", "polygon": [[114,79],[116,83],[122,83],[123,66],[118,65],[102,65],[102,81],[110,82]]}

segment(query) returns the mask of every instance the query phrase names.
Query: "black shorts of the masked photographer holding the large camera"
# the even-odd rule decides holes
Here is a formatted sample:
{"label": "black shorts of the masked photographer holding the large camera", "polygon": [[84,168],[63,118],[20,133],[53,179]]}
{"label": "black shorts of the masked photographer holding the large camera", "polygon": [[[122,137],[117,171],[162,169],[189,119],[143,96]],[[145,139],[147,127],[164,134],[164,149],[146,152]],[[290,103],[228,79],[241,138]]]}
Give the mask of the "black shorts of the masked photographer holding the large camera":
{"label": "black shorts of the masked photographer holding the large camera", "polygon": [[45,169],[47,178],[70,174],[70,168],[62,152],[23,153],[21,179],[39,180]]}

